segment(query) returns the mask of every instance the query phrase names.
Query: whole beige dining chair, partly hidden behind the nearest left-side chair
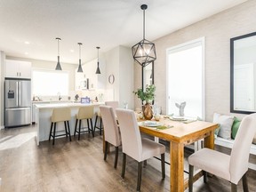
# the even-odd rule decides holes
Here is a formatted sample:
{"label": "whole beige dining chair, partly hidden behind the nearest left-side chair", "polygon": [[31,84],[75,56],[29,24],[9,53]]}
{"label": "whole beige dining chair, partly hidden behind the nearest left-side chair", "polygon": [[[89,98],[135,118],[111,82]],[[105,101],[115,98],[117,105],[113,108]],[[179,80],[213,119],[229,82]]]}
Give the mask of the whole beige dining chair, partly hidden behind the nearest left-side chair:
{"label": "whole beige dining chair, partly hidden behind the nearest left-side chair", "polygon": [[108,144],[115,146],[116,156],[114,167],[116,169],[118,160],[118,147],[121,146],[121,135],[119,132],[118,125],[116,123],[116,116],[114,109],[110,106],[100,106],[100,114],[104,124],[104,138],[105,138],[105,149],[104,149],[104,160],[107,160]]}

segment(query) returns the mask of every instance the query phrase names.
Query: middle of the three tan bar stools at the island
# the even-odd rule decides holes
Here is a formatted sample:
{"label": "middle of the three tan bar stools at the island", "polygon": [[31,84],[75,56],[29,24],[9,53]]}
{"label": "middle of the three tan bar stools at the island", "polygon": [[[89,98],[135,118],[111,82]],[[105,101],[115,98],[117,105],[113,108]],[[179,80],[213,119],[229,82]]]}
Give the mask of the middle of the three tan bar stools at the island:
{"label": "middle of the three tan bar stools at the island", "polygon": [[[76,132],[78,133],[78,140],[80,140],[82,120],[85,120],[85,119],[87,120],[87,127],[82,127],[82,129],[88,128],[88,130],[84,130],[82,132],[89,132],[90,134],[90,131],[92,131],[92,137],[94,137],[93,126],[92,126],[93,111],[94,111],[93,106],[84,106],[79,108],[78,113],[76,114],[76,125],[75,125],[75,132],[74,132],[74,137],[76,137]],[[77,130],[76,126],[77,126],[78,120],[79,120],[79,128]]]}

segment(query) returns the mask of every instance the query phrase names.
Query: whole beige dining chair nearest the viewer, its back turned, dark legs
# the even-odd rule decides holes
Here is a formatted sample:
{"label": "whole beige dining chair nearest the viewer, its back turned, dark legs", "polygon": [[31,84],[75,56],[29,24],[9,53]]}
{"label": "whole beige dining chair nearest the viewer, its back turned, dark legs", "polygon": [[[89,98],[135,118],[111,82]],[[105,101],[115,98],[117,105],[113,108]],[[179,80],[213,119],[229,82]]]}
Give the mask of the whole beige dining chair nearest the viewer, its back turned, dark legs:
{"label": "whole beige dining chair nearest the viewer, its back turned, dark legs", "polygon": [[162,177],[164,179],[164,145],[156,143],[153,140],[141,139],[140,129],[134,111],[116,108],[116,116],[121,132],[123,148],[122,178],[124,178],[126,155],[128,155],[138,162],[137,191],[140,191],[142,162],[153,156],[161,155]]}

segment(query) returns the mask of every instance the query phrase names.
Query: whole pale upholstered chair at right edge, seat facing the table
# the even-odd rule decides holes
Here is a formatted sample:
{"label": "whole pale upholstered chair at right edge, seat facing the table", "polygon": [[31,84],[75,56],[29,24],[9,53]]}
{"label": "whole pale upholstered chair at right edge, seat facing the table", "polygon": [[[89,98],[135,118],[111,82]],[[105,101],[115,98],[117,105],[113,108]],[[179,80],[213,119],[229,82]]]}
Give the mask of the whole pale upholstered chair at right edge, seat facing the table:
{"label": "whole pale upholstered chair at right edge, seat facing the table", "polygon": [[210,148],[202,148],[188,156],[189,192],[193,191],[194,166],[204,171],[204,182],[207,172],[231,182],[231,191],[237,191],[237,183],[243,178],[244,191],[248,191],[246,172],[252,139],[256,132],[256,114],[245,116],[240,124],[231,155],[220,153]]}

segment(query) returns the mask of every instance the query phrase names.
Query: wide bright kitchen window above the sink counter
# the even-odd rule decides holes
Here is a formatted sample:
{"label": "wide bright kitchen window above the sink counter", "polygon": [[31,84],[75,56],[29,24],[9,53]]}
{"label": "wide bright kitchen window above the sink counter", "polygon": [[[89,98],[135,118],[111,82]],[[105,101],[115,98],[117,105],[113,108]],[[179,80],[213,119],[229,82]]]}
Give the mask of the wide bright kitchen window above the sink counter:
{"label": "wide bright kitchen window above the sink counter", "polygon": [[32,71],[32,92],[34,95],[68,95],[69,74],[67,71],[34,69]]}

